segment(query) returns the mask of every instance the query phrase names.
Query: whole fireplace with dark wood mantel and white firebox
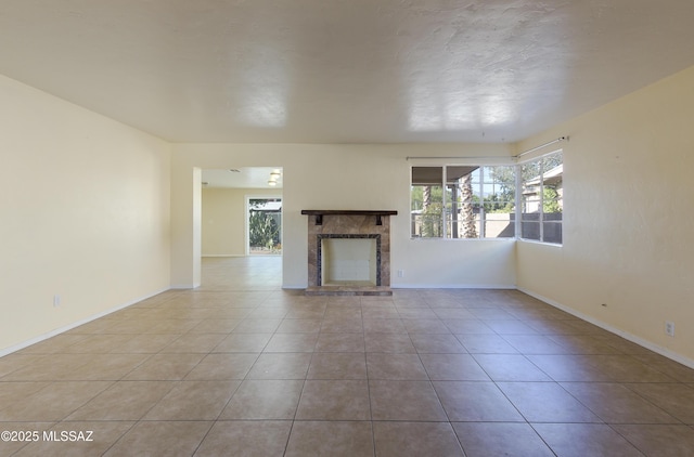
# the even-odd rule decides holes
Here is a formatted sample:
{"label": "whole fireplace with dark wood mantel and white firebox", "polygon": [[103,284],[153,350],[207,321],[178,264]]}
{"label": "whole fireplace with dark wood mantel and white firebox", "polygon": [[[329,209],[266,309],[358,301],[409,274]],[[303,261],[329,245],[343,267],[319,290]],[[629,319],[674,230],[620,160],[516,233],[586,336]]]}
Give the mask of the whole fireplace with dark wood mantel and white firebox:
{"label": "whole fireplace with dark wood mantel and white firebox", "polygon": [[390,295],[390,220],[397,211],[308,214],[310,295]]}

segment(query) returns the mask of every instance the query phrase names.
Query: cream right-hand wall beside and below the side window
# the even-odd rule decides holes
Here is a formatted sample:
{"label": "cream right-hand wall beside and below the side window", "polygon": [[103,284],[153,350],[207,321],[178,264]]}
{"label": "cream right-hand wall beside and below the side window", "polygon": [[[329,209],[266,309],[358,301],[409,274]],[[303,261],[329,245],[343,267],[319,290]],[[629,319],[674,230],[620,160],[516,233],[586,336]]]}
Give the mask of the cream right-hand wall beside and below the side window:
{"label": "cream right-hand wall beside and below the side window", "polygon": [[564,246],[518,243],[516,265],[523,290],[692,366],[693,120],[691,67],[524,142],[570,136]]}

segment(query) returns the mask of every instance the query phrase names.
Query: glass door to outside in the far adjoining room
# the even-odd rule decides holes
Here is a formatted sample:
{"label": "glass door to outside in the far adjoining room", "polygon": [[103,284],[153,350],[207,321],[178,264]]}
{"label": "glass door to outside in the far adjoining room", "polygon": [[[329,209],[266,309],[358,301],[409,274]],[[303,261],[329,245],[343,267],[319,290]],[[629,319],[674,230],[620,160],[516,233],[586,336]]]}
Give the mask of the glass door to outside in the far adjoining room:
{"label": "glass door to outside in the far adjoining room", "polygon": [[246,197],[246,253],[282,254],[282,196]]}

